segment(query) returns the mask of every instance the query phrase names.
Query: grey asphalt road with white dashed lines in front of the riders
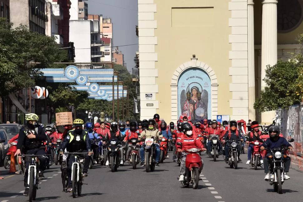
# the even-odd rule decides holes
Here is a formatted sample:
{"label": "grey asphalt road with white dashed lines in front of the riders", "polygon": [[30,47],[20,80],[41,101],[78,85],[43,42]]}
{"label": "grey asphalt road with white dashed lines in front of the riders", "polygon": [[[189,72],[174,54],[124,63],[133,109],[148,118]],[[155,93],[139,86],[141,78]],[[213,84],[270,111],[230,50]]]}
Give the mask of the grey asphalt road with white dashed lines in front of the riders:
{"label": "grey asphalt road with white dashed lines in front of the riders", "polygon": [[[245,164],[247,154],[241,154],[243,163],[238,169],[230,169],[220,157],[217,162],[202,155],[204,168],[198,189],[181,188],[177,181],[180,167],[166,159],[155,172],[146,173],[144,168],[133,170],[130,165],[112,173],[107,166],[95,165],[88,172],[82,186],[82,196],[75,199],[71,193],[62,192],[59,166],[51,166],[44,172],[45,180],[37,190],[37,201],[206,201],[206,202],[256,202],[302,201],[303,173],[290,170],[283,185],[283,194],[273,192],[273,186],[264,181],[264,170],[253,170]],[[22,175],[10,175],[0,168],[0,202],[28,201],[24,191]]]}

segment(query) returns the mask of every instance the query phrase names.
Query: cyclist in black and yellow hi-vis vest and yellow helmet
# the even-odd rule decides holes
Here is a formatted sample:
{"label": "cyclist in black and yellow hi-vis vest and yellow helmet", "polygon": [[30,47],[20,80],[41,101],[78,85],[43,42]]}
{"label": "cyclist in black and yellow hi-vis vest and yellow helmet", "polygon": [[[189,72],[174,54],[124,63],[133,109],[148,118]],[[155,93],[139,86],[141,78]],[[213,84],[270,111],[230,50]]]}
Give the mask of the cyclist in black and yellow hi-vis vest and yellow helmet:
{"label": "cyclist in black and yellow hi-vis vest and yellow helmet", "polygon": [[[65,148],[68,152],[78,152],[78,153],[86,153],[88,155],[92,155],[91,151],[91,141],[86,131],[82,129],[82,124],[84,121],[82,119],[75,119],[73,124],[75,125],[74,130],[70,130],[67,136],[64,138],[60,153],[63,154]],[[82,176],[87,176],[87,170],[89,166],[90,157],[87,155],[82,155],[84,158],[84,166],[82,170]],[[74,161],[74,155],[69,155],[67,157],[67,174],[68,174],[68,189],[67,191],[72,191],[72,162]]]}

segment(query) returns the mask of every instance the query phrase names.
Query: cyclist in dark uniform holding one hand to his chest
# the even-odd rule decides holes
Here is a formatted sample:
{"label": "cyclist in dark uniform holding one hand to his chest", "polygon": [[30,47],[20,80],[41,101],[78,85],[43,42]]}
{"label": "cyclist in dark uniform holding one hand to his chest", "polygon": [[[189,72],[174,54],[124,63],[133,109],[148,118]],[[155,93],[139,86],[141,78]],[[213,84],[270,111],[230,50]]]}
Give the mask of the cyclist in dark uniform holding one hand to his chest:
{"label": "cyclist in dark uniform holding one hand to his chest", "polygon": [[[25,114],[25,120],[27,123],[23,126],[22,129],[19,131],[18,143],[17,143],[17,151],[16,155],[21,154],[21,149],[23,147],[23,153],[30,155],[44,155],[45,147],[42,147],[42,142],[46,141],[46,134],[42,127],[35,124],[38,120],[37,114]],[[40,161],[39,164],[39,178],[44,178],[43,171],[46,169],[46,157],[38,156]],[[29,185],[27,184],[27,174],[28,174],[28,167],[30,164],[31,157],[27,156],[25,158],[26,161],[26,170],[24,174],[24,186],[25,191],[23,195],[28,196],[29,192]]]}

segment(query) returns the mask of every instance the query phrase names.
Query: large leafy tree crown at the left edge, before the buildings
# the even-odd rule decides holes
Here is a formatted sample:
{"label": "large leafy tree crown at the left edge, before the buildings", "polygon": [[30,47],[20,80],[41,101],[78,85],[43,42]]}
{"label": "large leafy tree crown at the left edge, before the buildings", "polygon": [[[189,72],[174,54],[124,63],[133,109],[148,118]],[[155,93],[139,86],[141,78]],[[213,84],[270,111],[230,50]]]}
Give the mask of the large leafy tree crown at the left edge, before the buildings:
{"label": "large leafy tree crown at the left edge, before the buildings", "polygon": [[[0,18],[0,97],[21,88],[34,86],[41,68],[61,62],[67,51],[59,49],[54,37],[31,32],[25,25],[12,29],[13,23]],[[29,62],[40,63],[29,65]]]}

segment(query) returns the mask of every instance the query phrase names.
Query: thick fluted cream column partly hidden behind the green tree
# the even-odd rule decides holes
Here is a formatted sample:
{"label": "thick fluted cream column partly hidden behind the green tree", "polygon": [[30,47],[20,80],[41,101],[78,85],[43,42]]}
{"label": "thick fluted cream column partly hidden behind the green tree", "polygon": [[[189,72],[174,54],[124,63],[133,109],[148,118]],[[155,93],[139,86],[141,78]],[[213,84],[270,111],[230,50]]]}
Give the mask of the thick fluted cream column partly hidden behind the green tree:
{"label": "thick fluted cream column partly hidden behind the green tree", "polygon": [[[277,63],[277,0],[263,0],[262,4],[262,56],[261,56],[261,79],[265,78],[267,65]],[[266,83],[261,81],[261,89]],[[262,123],[271,123],[275,118],[275,111],[261,114]]]}

